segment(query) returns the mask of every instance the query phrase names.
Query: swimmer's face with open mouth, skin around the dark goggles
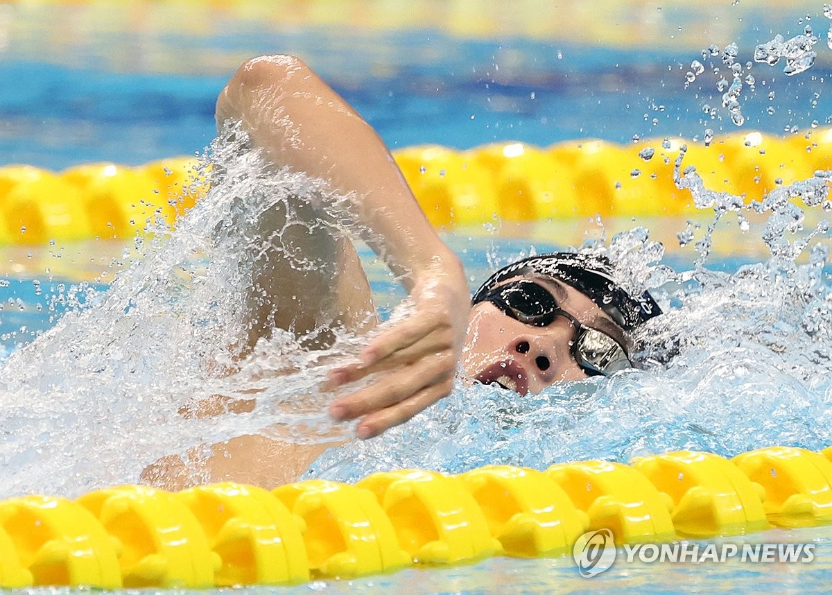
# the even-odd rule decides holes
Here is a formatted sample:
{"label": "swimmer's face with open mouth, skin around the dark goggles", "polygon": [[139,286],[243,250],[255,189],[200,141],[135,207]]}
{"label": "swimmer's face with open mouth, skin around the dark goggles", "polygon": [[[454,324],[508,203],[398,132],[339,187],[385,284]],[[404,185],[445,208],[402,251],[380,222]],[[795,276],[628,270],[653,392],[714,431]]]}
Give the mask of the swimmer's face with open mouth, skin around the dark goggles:
{"label": "swimmer's face with open mouth, skin around the dark goggles", "polygon": [[[622,329],[574,287],[542,277],[525,278],[549,290],[558,305],[582,325],[602,330],[622,345],[628,345]],[[574,339],[575,328],[564,316],[556,316],[547,326],[532,326],[483,301],[471,310],[460,361],[469,378],[483,384],[503,384],[520,394],[533,394],[562,380],[587,378],[572,356]]]}

